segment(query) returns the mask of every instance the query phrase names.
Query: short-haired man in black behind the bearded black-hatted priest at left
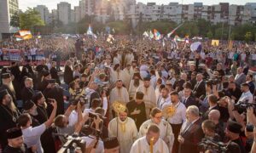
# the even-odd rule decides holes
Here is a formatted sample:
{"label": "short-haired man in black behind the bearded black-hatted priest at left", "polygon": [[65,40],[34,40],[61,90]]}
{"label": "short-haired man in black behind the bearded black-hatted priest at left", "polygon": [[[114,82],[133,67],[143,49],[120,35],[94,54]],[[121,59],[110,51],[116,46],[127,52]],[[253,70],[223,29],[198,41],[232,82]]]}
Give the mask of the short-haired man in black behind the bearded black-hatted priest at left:
{"label": "short-haired man in black behind the bearded black-hatted priest at left", "polygon": [[33,89],[32,78],[26,78],[24,83],[25,83],[25,87],[22,88],[21,90],[21,98],[23,100],[23,104],[25,104],[27,100],[32,99],[32,96],[36,94]]}

